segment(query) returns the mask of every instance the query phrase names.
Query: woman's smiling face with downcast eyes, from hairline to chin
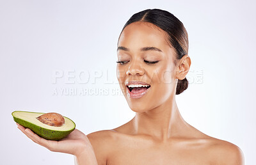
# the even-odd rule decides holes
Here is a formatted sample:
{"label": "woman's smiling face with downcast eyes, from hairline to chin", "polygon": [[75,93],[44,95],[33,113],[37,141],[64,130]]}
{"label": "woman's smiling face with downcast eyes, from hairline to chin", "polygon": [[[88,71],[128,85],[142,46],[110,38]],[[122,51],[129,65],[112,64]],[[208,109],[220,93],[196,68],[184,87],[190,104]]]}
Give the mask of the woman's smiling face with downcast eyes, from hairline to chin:
{"label": "woman's smiling face with downcast eyes, from hairline to chin", "polygon": [[[116,75],[132,111],[142,113],[174,97],[175,49],[168,44],[162,29],[148,22],[129,24],[120,35],[117,57],[122,63],[117,63]],[[134,87],[130,91],[127,83],[145,83],[150,88],[135,85],[130,86]]]}

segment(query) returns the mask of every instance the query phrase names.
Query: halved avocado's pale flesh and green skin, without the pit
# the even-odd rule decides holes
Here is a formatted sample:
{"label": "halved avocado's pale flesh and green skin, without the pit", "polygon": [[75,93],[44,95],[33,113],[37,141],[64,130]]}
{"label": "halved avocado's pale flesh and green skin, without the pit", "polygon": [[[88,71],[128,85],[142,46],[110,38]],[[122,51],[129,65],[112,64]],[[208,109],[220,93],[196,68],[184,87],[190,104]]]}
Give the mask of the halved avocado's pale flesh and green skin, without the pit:
{"label": "halved avocado's pale flesh and green skin, without the pit", "polygon": [[65,124],[61,127],[54,127],[46,125],[36,118],[45,113],[34,113],[26,111],[14,111],[12,113],[13,120],[23,127],[33,130],[38,136],[49,139],[49,140],[59,140],[65,138],[70,132],[72,132],[76,124],[69,118],[63,116],[65,119]]}

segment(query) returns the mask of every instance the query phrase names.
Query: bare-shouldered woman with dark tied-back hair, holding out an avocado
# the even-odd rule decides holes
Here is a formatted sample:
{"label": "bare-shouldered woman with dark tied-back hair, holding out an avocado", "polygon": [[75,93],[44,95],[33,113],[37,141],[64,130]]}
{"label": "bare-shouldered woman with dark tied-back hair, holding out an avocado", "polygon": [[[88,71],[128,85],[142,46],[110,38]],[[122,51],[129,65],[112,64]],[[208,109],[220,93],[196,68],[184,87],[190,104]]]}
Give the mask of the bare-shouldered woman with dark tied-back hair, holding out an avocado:
{"label": "bare-shouldered woman with dark tied-back hair, holding out an avocado", "polygon": [[127,21],[117,48],[117,77],[136,116],[112,130],[85,136],[74,130],[48,141],[19,129],[53,152],[76,156],[77,164],[244,164],[232,143],[212,138],[184,121],[175,95],[188,88],[188,33],[164,10],[144,10]]}

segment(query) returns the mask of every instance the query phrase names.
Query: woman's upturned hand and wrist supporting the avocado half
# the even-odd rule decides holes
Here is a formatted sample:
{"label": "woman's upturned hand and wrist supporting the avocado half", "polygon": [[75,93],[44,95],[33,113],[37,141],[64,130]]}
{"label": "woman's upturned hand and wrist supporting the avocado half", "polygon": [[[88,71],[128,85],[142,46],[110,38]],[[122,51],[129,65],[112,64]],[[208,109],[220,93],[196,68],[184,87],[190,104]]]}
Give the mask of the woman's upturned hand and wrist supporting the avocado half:
{"label": "woman's upturned hand and wrist supporting the avocado half", "polygon": [[41,138],[32,130],[19,125],[19,123],[17,123],[17,125],[29,139],[52,152],[70,153],[75,155],[79,164],[97,164],[92,145],[87,136],[80,130],[75,129],[68,134],[66,138],[60,139],[59,141],[52,141]]}

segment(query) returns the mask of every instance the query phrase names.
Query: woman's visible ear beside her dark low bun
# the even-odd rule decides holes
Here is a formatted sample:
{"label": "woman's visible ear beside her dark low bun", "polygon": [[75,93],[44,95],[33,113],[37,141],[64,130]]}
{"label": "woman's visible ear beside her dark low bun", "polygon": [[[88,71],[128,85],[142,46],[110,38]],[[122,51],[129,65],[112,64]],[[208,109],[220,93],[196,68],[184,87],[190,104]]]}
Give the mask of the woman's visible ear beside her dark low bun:
{"label": "woman's visible ear beside her dark low bun", "polygon": [[185,79],[191,65],[191,59],[188,55],[184,55],[176,66],[176,78],[179,80]]}

